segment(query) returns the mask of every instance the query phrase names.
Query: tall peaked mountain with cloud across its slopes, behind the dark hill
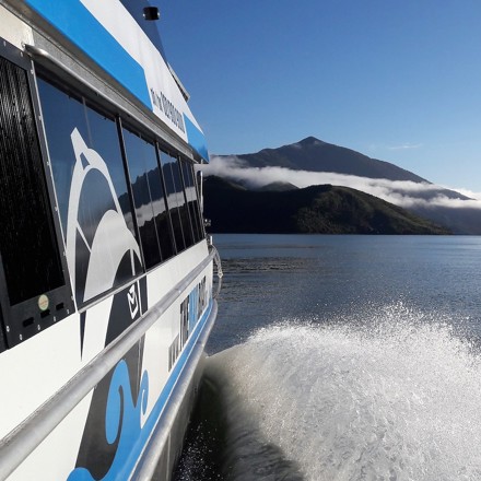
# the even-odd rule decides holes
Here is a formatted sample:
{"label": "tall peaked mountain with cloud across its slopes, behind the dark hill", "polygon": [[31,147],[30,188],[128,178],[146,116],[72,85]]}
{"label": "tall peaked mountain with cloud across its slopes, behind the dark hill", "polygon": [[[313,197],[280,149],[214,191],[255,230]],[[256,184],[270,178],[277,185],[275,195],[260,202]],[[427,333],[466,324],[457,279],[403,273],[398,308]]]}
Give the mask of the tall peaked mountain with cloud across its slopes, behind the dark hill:
{"label": "tall peaked mountain with cloud across its slopes, behind the dark hill", "polygon": [[[417,215],[447,226],[455,234],[481,235],[481,209],[477,208],[476,202],[470,202],[472,199],[455,190],[435,186],[389,162],[371,159],[360,152],[324,142],[315,137],[308,137],[278,149],[263,149],[257,153],[216,157],[221,160],[221,163],[225,160],[223,164],[226,166],[234,159],[237,167],[233,169],[234,174],[230,174],[228,167],[219,174],[232,180],[239,180],[246,187],[251,188],[253,185],[249,183],[253,184],[253,181],[248,180],[248,177],[243,180],[239,172],[260,168],[254,176],[257,189],[259,189],[259,179],[270,175],[269,168],[262,169],[262,167],[353,176],[340,177],[339,185],[361,188],[373,195],[382,196]],[[215,172],[212,174],[215,175]],[[207,175],[209,175],[208,172]],[[306,185],[306,176],[302,175],[304,185]],[[294,177],[295,174],[292,178]],[[253,176],[249,178],[251,179]],[[285,175],[283,178],[285,179]],[[368,180],[364,181],[363,178]],[[277,180],[271,176],[266,184]],[[295,184],[293,179],[291,181]]]}

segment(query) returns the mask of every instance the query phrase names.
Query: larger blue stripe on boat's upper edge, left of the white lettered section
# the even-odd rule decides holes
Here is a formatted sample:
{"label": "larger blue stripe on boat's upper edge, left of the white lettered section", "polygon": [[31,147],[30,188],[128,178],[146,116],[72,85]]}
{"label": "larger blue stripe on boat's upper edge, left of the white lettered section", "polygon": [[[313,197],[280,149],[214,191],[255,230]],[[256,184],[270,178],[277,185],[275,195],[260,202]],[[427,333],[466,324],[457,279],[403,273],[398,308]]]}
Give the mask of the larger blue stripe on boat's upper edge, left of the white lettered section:
{"label": "larger blue stripe on boat's upper edge, left of the white lettered section", "polygon": [[78,0],[26,0],[42,16],[152,109],[143,68]]}

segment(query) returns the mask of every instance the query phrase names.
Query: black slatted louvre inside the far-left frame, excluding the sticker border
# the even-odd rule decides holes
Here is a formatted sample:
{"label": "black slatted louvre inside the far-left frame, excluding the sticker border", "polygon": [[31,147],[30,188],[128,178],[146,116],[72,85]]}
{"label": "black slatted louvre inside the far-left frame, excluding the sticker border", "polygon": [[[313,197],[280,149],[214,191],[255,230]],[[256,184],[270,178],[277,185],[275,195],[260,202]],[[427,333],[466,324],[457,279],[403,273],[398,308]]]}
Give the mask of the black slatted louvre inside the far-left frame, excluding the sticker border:
{"label": "black slatted louvre inside the far-left frame, excluding the sticker border", "polygon": [[64,284],[26,71],[0,58],[0,249],[10,304]]}

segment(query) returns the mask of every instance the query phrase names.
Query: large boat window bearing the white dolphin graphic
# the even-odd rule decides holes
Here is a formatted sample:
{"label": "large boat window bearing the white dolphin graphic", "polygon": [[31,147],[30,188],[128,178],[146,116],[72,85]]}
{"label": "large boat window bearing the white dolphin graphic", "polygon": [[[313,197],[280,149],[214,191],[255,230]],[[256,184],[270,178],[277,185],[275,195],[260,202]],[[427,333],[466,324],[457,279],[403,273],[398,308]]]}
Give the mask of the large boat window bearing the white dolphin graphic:
{"label": "large boat window bearing the white dolphin graphic", "polygon": [[115,119],[38,80],[67,259],[79,304],[142,271]]}

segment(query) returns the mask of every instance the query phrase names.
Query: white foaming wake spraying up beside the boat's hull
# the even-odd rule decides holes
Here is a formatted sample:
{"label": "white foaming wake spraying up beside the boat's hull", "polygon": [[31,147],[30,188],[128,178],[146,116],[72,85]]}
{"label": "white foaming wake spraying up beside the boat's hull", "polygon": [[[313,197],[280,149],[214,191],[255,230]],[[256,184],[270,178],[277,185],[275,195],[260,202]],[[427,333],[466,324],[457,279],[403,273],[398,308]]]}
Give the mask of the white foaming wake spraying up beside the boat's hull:
{"label": "white foaming wake spraying up beside the boat's hull", "polygon": [[479,480],[477,351],[402,304],[259,329],[209,359],[202,479]]}

